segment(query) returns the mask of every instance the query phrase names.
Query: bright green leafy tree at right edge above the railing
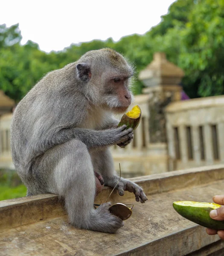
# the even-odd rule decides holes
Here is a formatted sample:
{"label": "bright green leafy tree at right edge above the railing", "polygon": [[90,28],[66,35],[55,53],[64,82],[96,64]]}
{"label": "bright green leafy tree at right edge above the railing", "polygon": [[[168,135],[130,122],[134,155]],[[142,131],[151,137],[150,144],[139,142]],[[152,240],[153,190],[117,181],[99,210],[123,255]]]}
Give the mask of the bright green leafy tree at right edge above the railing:
{"label": "bright green leafy tree at right edge above the railing", "polygon": [[187,81],[198,85],[199,96],[224,93],[224,1],[204,0],[195,5],[182,32],[180,66]]}

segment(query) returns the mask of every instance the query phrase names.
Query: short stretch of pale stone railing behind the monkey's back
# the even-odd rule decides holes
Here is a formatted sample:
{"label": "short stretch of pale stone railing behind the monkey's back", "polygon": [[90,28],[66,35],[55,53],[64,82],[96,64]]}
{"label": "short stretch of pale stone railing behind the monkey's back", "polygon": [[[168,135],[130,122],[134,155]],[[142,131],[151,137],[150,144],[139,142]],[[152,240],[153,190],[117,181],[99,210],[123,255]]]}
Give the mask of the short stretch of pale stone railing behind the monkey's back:
{"label": "short stretch of pale stone railing behind the monkey's back", "polygon": [[10,150],[12,113],[0,116],[0,168],[14,169]]}

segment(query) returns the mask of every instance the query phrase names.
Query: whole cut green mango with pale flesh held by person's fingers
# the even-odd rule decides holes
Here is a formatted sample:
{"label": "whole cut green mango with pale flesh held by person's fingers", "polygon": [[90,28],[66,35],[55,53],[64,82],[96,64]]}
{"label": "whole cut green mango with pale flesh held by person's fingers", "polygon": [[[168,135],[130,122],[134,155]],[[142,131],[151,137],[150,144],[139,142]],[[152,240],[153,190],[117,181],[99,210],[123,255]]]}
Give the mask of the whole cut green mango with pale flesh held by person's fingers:
{"label": "whole cut green mango with pale flesh held by person's fingers", "polygon": [[216,221],[209,216],[211,210],[221,207],[220,204],[177,201],[173,203],[173,207],[176,212],[189,221],[213,230],[224,230],[224,221]]}

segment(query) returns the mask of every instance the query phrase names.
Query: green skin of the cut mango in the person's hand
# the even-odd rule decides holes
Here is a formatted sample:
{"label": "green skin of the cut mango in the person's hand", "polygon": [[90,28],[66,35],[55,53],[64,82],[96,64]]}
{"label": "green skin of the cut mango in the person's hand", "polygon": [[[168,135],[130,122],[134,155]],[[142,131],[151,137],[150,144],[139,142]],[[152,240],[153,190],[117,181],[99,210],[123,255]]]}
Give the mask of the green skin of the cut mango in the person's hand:
{"label": "green skin of the cut mango in the person's hand", "polygon": [[[198,202],[198,204],[200,204]],[[175,202],[173,207],[182,217],[193,221],[203,227],[213,230],[224,230],[224,221],[216,221],[210,218],[209,212],[213,210],[212,207],[197,207],[192,205],[178,205]]]}

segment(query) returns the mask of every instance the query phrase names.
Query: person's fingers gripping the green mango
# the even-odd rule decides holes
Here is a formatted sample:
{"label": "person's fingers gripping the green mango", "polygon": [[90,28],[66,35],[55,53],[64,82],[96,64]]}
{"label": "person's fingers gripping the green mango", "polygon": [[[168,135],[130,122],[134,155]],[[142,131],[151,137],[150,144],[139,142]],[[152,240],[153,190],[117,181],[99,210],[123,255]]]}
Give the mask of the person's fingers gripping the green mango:
{"label": "person's fingers gripping the green mango", "polygon": [[[223,221],[224,220],[224,195],[215,195],[213,198],[214,203],[221,204],[222,206],[218,209],[210,211],[210,217],[217,221]],[[206,232],[208,235],[216,235],[224,240],[224,230],[212,230],[210,228],[206,229]]]}

